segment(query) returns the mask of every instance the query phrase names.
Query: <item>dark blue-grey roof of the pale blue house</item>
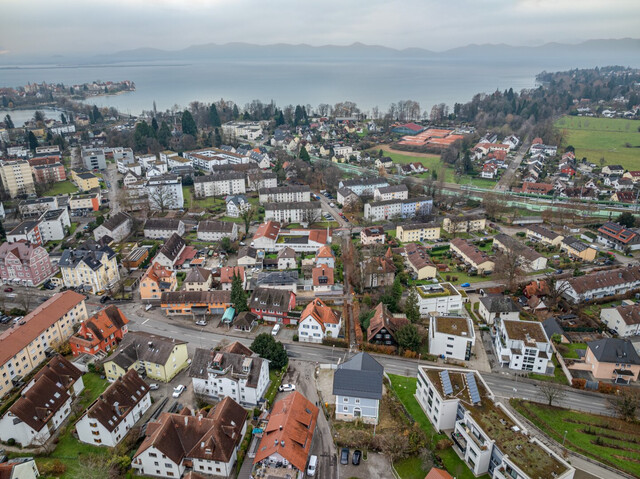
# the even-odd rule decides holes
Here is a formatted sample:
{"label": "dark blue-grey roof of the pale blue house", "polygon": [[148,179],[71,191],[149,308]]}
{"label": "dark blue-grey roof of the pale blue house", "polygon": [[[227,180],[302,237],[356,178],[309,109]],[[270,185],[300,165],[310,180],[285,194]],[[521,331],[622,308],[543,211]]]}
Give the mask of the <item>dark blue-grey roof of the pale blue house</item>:
{"label": "dark blue-grey roof of the pale blue house", "polygon": [[333,394],[367,399],[382,398],[384,368],[367,353],[359,353],[338,366],[333,375]]}

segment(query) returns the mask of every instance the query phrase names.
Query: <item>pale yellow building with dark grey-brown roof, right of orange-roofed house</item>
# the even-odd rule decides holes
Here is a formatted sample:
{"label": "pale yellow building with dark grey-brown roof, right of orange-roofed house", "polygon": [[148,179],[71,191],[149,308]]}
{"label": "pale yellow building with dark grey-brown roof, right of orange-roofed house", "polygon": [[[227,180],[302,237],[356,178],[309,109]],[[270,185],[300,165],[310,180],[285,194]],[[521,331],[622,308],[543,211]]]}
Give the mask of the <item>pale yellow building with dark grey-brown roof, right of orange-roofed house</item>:
{"label": "pale yellow building with dark grey-brown roof, right of orange-roofed house", "polygon": [[144,369],[149,379],[169,382],[189,365],[188,359],[185,341],[132,331],[105,361],[104,373],[113,382],[131,369]]}

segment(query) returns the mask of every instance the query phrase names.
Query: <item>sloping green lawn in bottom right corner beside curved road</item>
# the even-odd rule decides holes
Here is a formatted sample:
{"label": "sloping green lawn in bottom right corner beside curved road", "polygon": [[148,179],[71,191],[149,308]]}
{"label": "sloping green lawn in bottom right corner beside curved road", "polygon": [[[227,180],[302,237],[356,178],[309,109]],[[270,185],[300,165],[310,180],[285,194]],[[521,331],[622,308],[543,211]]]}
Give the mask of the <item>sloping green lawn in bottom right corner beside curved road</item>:
{"label": "sloping green lawn in bottom right corner beside curved road", "polygon": [[568,449],[640,477],[640,425],[617,418],[511,400],[516,410]]}

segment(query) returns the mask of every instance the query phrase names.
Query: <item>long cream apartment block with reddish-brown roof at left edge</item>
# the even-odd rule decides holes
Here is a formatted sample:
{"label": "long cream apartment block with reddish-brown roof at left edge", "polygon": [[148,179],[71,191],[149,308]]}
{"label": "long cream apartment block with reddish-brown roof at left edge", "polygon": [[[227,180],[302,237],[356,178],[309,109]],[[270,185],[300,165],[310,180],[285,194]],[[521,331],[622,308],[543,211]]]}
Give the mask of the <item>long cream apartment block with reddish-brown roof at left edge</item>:
{"label": "long cream apartment block with reddish-brown roof at left edge", "polygon": [[58,293],[0,335],[0,397],[46,359],[47,348],[65,342],[87,319],[85,297]]}

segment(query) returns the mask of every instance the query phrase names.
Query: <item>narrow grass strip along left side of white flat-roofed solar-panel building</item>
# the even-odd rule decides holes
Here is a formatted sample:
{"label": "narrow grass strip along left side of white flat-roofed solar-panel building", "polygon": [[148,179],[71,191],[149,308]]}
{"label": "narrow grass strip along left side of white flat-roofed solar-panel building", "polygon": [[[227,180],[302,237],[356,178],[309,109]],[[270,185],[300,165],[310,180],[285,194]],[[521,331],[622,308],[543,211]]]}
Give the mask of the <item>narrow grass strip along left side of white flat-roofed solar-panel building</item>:
{"label": "narrow grass strip along left side of white flat-roofed solar-panel building", "polygon": [[[411,417],[420,425],[420,427],[427,433],[427,437],[431,438],[431,446],[435,448],[435,444],[440,439],[445,439],[447,436],[438,434],[438,432],[433,428],[429,419],[425,415],[424,411],[418,404],[418,400],[415,398],[416,393],[416,378],[408,378],[405,376],[397,376],[395,374],[389,374],[389,379],[391,379],[391,386],[395,393],[400,398],[400,401],[406,408],[406,410],[411,414]],[[456,476],[457,479],[475,479],[475,476],[471,472],[471,470],[467,467],[467,465],[458,457],[453,448],[449,447],[442,451],[436,451],[436,455],[440,456],[442,463],[447,471],[450,474]],[[398,471],[399,472],[399,471]],[[402,476],[405,477],[414,477],[414,476]],[[423,476],[424,477],[424,476]],[[488,478],[488,475],[480,476],[480,479]]]}

